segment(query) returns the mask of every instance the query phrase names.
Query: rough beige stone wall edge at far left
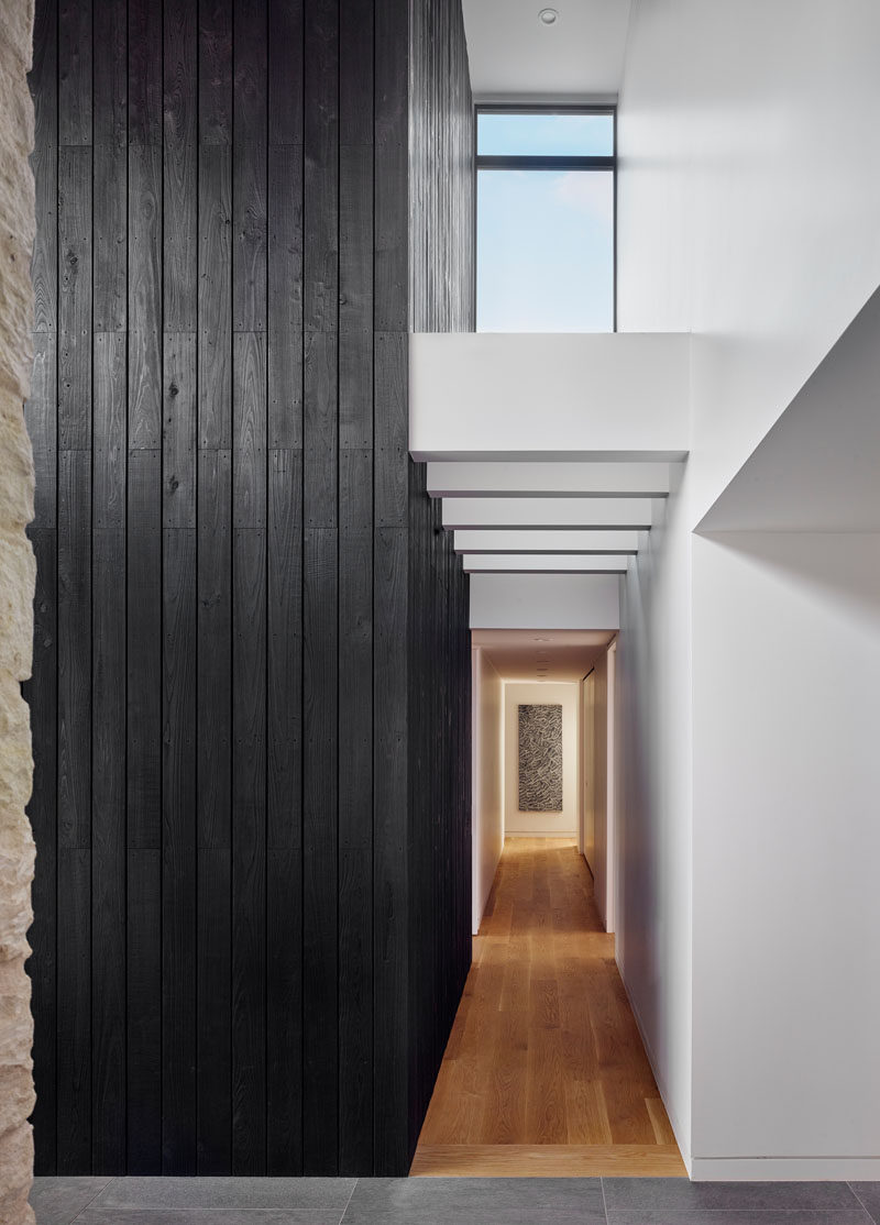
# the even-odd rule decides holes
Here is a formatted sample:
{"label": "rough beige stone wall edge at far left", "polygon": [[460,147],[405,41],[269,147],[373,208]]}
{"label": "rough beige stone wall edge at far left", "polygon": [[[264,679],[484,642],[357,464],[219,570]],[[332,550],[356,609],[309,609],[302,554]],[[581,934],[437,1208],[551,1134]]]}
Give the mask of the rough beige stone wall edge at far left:
{"label": "rough beige stone wall edge at far left", "polygon": [[25,535],[33,518],[33,462],[23,402],[31,382],[34,235],[32,0],[0,0],[0,1221],[33,1221],[31,880],[34,845],[29,712],[21,681],[31,673],[36,566]]}

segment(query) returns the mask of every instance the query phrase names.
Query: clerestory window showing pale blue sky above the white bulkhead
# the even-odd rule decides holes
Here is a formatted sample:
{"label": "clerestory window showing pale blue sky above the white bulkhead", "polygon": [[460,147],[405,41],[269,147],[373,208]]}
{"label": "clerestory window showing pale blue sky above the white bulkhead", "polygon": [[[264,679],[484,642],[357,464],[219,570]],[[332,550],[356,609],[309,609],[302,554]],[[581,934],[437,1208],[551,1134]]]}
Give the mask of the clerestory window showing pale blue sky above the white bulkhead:
{"label": "clerestory window showing pale blue sky above the white bulkhead", "polygon": [[478,108],[478,332],[613,332],[614,230],[613,108]]}

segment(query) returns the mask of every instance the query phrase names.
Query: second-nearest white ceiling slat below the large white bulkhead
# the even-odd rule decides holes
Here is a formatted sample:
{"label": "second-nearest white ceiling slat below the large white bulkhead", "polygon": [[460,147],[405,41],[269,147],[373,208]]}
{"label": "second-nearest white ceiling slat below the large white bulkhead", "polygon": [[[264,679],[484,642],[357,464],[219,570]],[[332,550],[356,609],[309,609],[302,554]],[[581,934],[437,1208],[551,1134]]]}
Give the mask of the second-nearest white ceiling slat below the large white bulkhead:
{"label": "second-nearest white ceiling slat below the large white bulkhead", "polygon": [[648,497],[444,497],[445,528],[625,530],[651,527]]}

